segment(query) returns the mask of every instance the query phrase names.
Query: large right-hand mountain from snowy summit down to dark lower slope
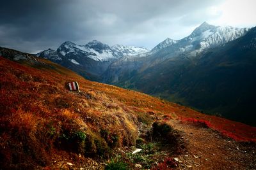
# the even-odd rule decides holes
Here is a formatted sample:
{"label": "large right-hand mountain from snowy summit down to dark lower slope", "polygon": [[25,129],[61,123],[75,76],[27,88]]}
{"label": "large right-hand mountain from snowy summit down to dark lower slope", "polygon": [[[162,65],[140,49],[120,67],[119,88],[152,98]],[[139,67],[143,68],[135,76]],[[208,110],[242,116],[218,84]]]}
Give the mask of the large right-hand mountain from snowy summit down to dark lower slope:
{"label": "large right-hand mountain from snowy summit down to dark lower slope", "polygon": [[[214,30],[218,33],[204,38]],[[255,27],[244,36],[243,31],[202,24],[144,60],[119,59],[108,67],[104,81],[255,126]]]}

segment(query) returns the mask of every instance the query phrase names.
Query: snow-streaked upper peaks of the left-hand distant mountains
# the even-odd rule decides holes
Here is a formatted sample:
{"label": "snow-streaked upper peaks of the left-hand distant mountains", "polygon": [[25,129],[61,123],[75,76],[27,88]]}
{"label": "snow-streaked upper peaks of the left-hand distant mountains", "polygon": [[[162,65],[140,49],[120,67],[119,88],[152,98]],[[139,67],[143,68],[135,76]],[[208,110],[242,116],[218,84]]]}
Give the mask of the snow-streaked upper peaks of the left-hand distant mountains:
{"label": "snow-streaked upper peaks of the left-hand distant mountains", "polygon": [[139,55],[146,52],[149,52],[149,50],[145,47],[124,45],[114,45],[110,47],[100,41],[93,40],[86,45],[76,45],[70,41],[65,41],[56,51],[48,49],[37,55],[51,60],[61,60],[63,57],[67,57],[69,60],[74,60],[74,57],[88,57],[103,62],[107,60],[116,60],[124,56]]}

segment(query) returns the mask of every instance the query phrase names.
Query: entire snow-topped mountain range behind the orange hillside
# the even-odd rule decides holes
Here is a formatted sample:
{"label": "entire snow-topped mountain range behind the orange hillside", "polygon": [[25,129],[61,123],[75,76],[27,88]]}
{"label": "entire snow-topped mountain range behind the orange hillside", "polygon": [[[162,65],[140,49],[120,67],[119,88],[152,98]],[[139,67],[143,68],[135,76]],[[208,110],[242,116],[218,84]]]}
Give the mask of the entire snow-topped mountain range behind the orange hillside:
{"label": "entire snow-topped mountain range behind the orange hillside", "polygon": [[[166,38],[147,50],[67,41],[39,57],[85,78],[135,89],[205,113],[256,125],[256,28],[220,27],[204,22],[189,36]],[[254,118],[254,119],[253,119]]]}

